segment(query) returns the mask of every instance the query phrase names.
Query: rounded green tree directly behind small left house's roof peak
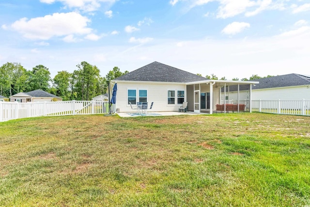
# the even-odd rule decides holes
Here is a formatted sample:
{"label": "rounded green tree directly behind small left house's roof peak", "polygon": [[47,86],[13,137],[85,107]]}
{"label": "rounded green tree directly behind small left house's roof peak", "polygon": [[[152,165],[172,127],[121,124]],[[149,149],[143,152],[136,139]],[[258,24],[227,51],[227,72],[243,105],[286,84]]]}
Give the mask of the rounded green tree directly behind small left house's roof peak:
{"label": "rounded green tree directly behind small left house's roof peak", "polygon": [[43,91],[48,91],[49,89],[49,81],[51,81],[50,78],[50,72],[48,68],[42,64],[37,65],[32,68],[32,71],[28,71],[29,79],[27,88],[29,91],[41,89]]}

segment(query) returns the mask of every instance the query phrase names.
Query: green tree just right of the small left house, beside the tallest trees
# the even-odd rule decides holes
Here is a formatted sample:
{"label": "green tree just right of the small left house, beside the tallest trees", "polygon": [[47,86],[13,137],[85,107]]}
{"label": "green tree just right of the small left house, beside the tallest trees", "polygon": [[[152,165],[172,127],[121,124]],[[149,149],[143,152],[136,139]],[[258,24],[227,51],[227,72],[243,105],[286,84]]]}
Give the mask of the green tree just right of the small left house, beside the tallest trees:
{"label": "green tree just right of the small left house, beside the tallest trees", "polygon": [[71,73],[63,70],[59,71],[53,79],[53,84],[56,89],[56,96],[62,97],[64,101],[70,100],[70,94],[68,89],[70,83],[69,79],[71,76]]}

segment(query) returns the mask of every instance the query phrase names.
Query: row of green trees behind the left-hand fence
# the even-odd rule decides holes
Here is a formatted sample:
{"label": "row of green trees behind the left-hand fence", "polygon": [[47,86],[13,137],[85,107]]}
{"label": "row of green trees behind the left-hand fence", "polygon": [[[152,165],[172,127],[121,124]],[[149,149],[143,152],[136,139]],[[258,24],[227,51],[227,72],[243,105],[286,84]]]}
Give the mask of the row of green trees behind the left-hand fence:
{"label": "row of green trees behind the left-hand fence", "polygon": [[114,67],[106,77],[101,77],[96,65],[84,61],[77,65],[73,73],[62,70],[52,79],[44,65],[27,70],[20,63],[6,63],[0,67],[0,95],[10,97],[20,92],[41,89],[62,97],[64,101],[91,100],[107,92],[110,80],[127,73]]}

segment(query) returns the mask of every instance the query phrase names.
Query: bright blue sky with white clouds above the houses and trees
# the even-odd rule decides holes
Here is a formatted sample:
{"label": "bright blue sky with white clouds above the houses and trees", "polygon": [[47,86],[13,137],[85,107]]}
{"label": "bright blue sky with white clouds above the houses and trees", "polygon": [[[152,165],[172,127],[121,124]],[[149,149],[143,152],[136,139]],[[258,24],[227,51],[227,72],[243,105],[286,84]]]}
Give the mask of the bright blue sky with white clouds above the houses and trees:
{"label": "bright blue sky with white clouds above the houses and trees", "polygon": [[0,65],[310,75],[310,0],[0,0]]}

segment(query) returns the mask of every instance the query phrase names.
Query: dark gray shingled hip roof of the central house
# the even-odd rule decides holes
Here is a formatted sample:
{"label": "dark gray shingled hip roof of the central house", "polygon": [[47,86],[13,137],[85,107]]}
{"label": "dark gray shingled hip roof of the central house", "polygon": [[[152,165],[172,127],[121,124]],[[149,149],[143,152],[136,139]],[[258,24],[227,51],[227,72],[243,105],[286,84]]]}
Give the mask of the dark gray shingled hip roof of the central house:
{"label": "dark gray shingled hip roof of the central house", "polygon": [[130,73],[127,73],[114,80],[130,81],[154,81],[154,82],[192,82],[199,80],[208,80],[193,73],[171,67],[166,64],[154,62]]}

